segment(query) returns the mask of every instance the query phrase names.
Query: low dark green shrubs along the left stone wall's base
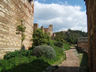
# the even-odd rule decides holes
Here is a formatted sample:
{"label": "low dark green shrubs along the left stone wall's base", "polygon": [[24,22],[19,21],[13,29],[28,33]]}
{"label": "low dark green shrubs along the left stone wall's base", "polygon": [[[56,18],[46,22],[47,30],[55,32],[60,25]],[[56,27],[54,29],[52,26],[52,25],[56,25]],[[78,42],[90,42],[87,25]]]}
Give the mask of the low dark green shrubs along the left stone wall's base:
{"label": "low dark green shrubs along the left stone wall's base", "polygon": [[13,57],[18,57],[18,56],[31,56],[32,51],[31,50],[21,50],[21,51],[15,51],[15,52],[9,52],[4,56],[4,59],[10,59]]}

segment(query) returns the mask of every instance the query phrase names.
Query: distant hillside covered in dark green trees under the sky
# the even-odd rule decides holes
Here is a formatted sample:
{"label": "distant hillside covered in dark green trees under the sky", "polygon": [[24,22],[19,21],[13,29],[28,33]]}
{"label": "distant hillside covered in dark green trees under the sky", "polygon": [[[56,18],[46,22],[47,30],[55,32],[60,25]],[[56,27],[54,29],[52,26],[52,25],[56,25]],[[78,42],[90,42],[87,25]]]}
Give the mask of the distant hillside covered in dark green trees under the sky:
{"label": "distant hillside covered in dark green trees under the sky", "polygon": [[68,30],[55,33],[55,40],[76,44],[79,37],[87,37],[88,33],[79,30]]}

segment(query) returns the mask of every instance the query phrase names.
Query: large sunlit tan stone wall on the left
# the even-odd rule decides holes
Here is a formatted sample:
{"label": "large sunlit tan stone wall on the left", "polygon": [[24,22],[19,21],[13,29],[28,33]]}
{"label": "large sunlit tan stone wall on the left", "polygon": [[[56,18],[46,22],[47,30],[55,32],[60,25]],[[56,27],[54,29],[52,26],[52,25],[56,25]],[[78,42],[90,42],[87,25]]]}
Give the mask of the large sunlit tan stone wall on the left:
{"label": "large sunlit tan stone wall on the left", "polygon": [[21,49],[21,35],[16,34],[16,27],[23,20],[26,49],[32,45],[33,33],[33,1],[28,0],[0,0],[0,57],[6,52]]}

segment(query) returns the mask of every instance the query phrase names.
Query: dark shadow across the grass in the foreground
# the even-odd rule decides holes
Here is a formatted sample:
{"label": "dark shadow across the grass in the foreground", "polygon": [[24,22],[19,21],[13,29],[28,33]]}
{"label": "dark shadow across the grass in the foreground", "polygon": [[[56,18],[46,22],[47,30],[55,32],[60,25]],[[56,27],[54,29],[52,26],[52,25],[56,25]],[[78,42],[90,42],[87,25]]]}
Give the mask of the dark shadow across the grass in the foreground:
{"label": "dark shadow across the grass in the foreground", "polygon": [[50,66],[47,62],[37,59],[31,63],[21,64],[10,70],[2,72],[42,72],[46,67]]}

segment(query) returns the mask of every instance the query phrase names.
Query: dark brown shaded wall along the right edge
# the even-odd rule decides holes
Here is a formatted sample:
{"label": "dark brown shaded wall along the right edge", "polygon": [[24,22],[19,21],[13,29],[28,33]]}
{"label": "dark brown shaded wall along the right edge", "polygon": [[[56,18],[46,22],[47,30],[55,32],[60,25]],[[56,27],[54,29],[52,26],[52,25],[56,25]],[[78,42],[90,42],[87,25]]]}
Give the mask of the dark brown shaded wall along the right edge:
{"label": "dark brown shaded wall along the right edge", "polygon": [[96,0],[85,0],[88,19],[89,69],[96,72]]}

